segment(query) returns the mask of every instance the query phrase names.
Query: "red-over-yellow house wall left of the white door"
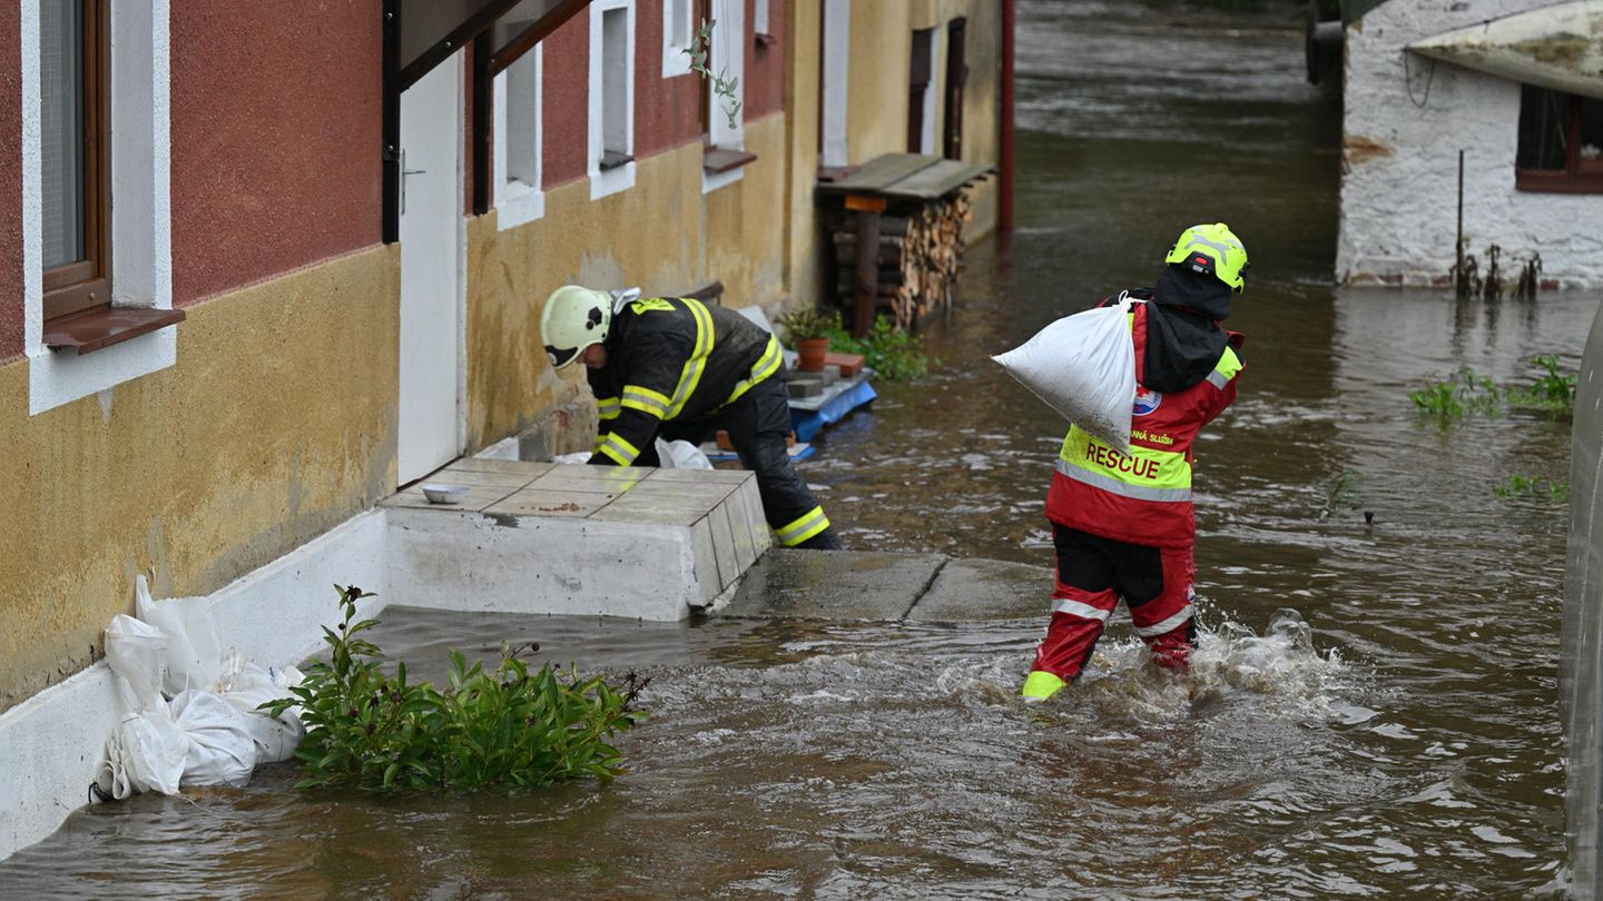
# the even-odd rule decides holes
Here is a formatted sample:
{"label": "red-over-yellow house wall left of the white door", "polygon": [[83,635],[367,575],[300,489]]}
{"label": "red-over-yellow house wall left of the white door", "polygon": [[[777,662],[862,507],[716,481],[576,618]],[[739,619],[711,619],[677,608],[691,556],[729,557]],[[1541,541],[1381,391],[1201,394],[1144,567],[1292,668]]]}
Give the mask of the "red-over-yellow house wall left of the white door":
{"label": "red-over-yellow house wall left of the white door", "polygon": [[[175,5],[176,362],[30,415],[18,6],[0,8],[0,710],[88,665],[133,577],[204,595],[394,491],[399,255],[378,0]],[[308,402],[308,401],[314,402]]]}

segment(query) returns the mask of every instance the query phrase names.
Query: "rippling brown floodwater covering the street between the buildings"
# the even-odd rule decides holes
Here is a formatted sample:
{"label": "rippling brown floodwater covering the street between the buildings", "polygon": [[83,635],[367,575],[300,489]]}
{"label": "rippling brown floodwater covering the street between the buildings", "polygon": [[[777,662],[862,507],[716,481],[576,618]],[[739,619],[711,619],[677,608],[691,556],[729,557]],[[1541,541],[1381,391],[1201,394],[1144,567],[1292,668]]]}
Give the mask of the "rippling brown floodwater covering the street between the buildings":
{"label": "rippling brown floodwater covering the street between the buildings", "polygon": [[[1116,622],[1026,710],[1047,584],[1021,598],[1039,614],[949,625],[393,611],[382,643],[434,677],[446,646],[503,638],[651,675],[632,773],[373,798],[268,766],[79,811],[0,864],[0,896],[1560,893],[1566,505],[1544,479],[1568,479],[1569,425],[1443,423],[1409,391],[1465,366],[1528,383],[1536,354],[1574,372],[1603,293],[1332,287],[1340,106],[1305,83],[1302,32],[1170,8],[1020,3],[1018,231],[970,248],[923,330],[938,372],[882,383],[805,476],[848,548],[1050,566],[1064,426],[989,354],[1228,221],[1247,370],[1197,447],[1191,677],[1148,673]],[[1516,476],[1540,491],[1504,497]]]}

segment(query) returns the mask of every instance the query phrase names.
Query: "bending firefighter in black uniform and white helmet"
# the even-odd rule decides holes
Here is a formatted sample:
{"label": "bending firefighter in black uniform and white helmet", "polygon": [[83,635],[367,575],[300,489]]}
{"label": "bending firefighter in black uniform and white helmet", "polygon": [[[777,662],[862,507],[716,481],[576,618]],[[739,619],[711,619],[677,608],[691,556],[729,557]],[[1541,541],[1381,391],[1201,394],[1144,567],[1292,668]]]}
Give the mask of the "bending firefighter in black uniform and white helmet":
{"label": "bending firefighter in black uniform and white helmet", "polygon": [[779,341],[733,309],[694,298],[556,289],[540,313],[551,366],[583,362],[601,412],[590,463],[656,467],[656,439],[729,433],[757,473],[782,547],[834,550],[835,531],[790,465],[790,394]]}

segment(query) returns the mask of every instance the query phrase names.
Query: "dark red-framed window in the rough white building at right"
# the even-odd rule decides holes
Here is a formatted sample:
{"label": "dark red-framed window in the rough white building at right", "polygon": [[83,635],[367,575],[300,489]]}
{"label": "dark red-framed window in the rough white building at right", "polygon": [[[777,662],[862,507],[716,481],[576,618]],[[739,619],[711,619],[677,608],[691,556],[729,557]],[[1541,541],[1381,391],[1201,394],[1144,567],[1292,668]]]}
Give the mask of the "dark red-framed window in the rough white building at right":
{"label": "dark red-framed window in the rough white building at right", "polygon": [[1603,99],[1521,85],[1515,186],[1603,194]]}

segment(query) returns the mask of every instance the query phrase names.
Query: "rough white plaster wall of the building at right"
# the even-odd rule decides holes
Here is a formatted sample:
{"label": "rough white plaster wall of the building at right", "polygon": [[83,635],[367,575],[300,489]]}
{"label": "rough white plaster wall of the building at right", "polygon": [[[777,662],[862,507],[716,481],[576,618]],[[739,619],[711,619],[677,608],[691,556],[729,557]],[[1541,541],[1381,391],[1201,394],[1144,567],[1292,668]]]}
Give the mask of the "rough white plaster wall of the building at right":
{"label": "rough white plaster wall of the building at right", "polygon": [[1419,38],[1545,5],[1545,0],[1383,3],[1347,29],[1342,224],[1345,284],[1449,285],[1456,260],[1459,151],[1465,252],[1484,274],[1488,247],[1518,276],[1542,255],[1542,277],[1603,284],[1595,194],[1515,191],[1520,85],[1404,53]]}

